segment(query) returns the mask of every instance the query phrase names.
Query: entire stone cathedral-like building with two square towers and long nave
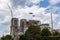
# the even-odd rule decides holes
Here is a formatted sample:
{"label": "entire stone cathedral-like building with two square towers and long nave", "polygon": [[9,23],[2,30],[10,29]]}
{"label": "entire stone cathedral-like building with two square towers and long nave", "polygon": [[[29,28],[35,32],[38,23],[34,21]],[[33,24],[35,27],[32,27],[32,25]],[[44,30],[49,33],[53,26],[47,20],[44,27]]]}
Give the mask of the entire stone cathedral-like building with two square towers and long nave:
{"label": "entire stone cathedral-like building with two square towers and long nave", "polygon": [[20,26],[18,26],[18,22],[19,22],[18,18],[12,18],[11,20],[11,32],[10,33],[11,33],[12,38],[14,38],[14,40],[18,40],[19,38],[18,36],[21,34],[23,35],[30,25],[40,26],[41,30],[44,28],[50,29],[49,24],[41,24],[41,22],[38,20],[27,21],[26,19],[21,19]]}

